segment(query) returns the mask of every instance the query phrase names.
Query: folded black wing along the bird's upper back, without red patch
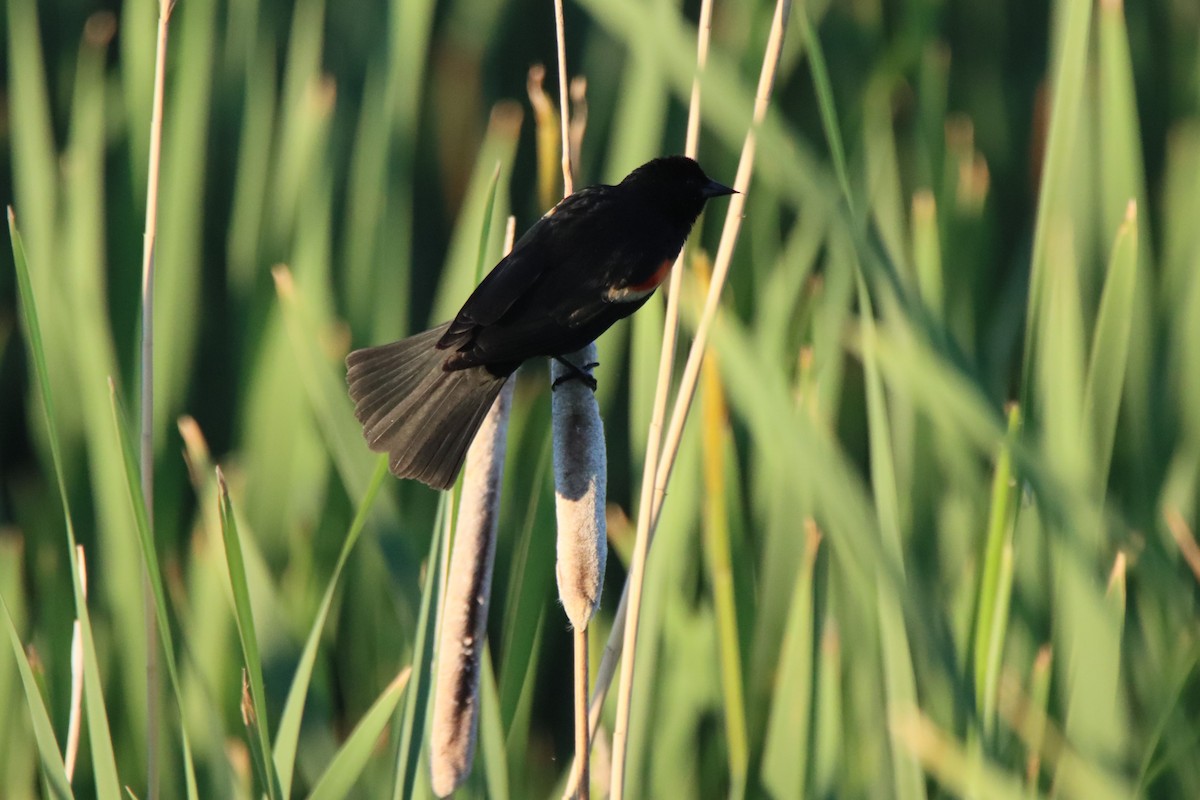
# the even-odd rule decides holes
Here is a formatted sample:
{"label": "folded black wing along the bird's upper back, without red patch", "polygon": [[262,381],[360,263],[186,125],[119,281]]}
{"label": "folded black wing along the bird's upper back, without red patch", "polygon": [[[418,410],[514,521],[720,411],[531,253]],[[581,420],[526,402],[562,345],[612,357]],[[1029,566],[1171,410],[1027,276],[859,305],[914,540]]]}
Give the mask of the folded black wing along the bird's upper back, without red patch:
{"label": "folded black wing along the bird's upper back, without red patch", "polygon": [[527,296],[563,257],[571,230],[610,204],[611,187],[589,186],[571,194],[535,222],[467,297],[438,348],[468,343],[478,327],[493,325]]}

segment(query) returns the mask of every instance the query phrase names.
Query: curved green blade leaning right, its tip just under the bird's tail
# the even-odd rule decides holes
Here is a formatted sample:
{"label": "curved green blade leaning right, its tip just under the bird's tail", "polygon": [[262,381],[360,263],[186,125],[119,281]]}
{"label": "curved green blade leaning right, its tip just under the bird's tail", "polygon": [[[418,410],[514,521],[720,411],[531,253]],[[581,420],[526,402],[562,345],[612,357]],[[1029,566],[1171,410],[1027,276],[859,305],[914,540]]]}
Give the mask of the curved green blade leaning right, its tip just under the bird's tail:
{"label": "curved green blade leaning right, its tip just under the bird's tail", "polygon": [[[278,766],[280,787],[283,790],[283,796],[290,796],[292,792],[292,776],[293,770],[295,769],[296,747],[300,742],[300,722],[304,718],[304,706],[308,696],[308,685],[312,682],[313,664],[317,662],[317,648],[320,645],[320,633],[325,630],[325,620],[329,616],[329,609],[334,604],[334,594],[337,589],[338,578],[342,576],[342,569],[346,566],[346,561],[349,559],[350,552],[354,549],[354,545],[359,541],[359,536],[366,525],[371,509],[374,506],[376,497],[379,494],[379,488],[383,486],[386,477],[388,459],[380,457],[377,459],[376,471],[371,477],[371,483],[367,486],[367,492],[354,515],[354,522],[350,523],[350,530],[346,535],[346,541],[342,542],[342,552],[337,555],[337,563],[334,565],[334,572],[330,575],[329,584],[325,587],[325,594],[320,599],[320,607],[317,609],[317,618],[313,620],[312,627],[308,630],[308,638],[305,640],[304,651],[300,655],[300,662],[296,664],[295,676],[292,679],[292,687],[288,690],[288,699],[283,704],[283,714],[280,716],[278,730],[275,734],[275,763]],[[316,792],[316,789],[313,789],[313,792]]]}

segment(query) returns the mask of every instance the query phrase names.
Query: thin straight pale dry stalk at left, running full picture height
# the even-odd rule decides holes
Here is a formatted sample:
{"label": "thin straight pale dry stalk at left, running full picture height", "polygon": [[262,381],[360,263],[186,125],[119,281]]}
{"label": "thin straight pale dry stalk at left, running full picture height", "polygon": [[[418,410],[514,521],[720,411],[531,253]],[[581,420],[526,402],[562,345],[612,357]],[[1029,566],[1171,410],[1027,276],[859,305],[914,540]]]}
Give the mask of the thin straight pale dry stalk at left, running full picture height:
{"label": "thin straight pale dry stalk at left, running full picture height", "polygon": [[[167,73],[167,30],[172,0],[158,1],[155,46],[154,101],[150,110],[150,155],[146,169],[146,218],[142,245],[142,494],[154,531],[154,248],[158,234],[158,169],[162,155],[162,104]],[[146,796],[158,796],[158,632],[155,625],[150,576],[142,569],[142,597],[146,638]]]}

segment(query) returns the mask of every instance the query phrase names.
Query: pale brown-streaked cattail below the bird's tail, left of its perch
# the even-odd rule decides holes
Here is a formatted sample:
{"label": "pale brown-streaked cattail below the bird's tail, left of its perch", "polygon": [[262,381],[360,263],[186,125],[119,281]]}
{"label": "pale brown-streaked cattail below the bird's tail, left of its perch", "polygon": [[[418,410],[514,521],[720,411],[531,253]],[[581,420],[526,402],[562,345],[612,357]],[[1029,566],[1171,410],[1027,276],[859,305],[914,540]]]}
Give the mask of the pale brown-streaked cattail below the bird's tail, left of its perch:
{"label": "pale brown-streaked cattail below the bird's tail, left of its perch", "polygon": [[[512,249],[515,229],[516,219],[509,217],[505,254]],[[458,522],[443,584],[445,595],[438,633],[438,679],[430,728],[432,788],[439,798],[458,788],[470,772],[475,756],[479,675],[487,637],[496,529],[515,385],[511,377],[505,381],[467,450],[462,471]]]}

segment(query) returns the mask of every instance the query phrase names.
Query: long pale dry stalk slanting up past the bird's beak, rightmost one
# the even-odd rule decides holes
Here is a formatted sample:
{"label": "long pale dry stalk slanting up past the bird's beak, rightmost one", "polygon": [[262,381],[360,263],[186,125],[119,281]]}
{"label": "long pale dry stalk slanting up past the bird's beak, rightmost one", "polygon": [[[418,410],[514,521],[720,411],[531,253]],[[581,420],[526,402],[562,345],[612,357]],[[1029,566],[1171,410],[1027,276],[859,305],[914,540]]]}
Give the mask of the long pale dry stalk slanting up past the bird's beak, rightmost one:
{"label": "long pale dry stalk slanting up past the bird's beak, rightmost one", "polygon": [[[738,191],[730,200],[728,211],[725,216],[725,228],[721,230],[721,242],[716,251],[716,259],[713,264],[713,279],[704,301],[704,311],[696,329],[696,337],[692,339],[691,349],[688,353],[688,363],[684,367],[683,380],[679,385],[679,393],[676,396],[674,408],[671,413],[671,425],[667,429],[667,438],[662,446],[661,463],[654,464],[652,471],[647,463],[646,473],[654,475],[653,492],[642,483],[642,500],[637,515],[637,536],[634,542],[634,555],[630,565],[628,591],[629,603],[626,606],[625,630],[623,637],[623,650],[625,658],[620,664],[620,685],[617,694],[617,724],[613,728],[613,758],[612,758],[612,798],[620,800],[624,796],[624,771],[629,735],[629,714],[634,691],[634,663],[636,661],[638,612],[642,603],[642,588],[646,581],[646,557],[649,551],[649,542],[653,528],[658,523],[659,511],[662,506],[662,498],[666,495],[666,485],[674,467],[674,457],[679,450],[679,441],[683,437],[683,426],[691,409],[691,402],[696,393],[696,383],[700,378],[700,367],[704,357],[704,348],[708,344],[708,332],[713,319],[716,317],[716,308],[720,303],[721,290],[728,276],[730,263],[733,258],[733,247],[737,242],[738,233],[742,229],[742,213],[745,209],[745,192],[750,186],[750,175],[754,172],[754,157],[757,145],[757,128],[767,115],[770,103],[770,94],[775,83],[775,71],[779,65],[779,55],[784,46],[784,30],[787,25],[787,14],[791,11],[788,0],[779,0],[775,5],[775,16],[772,20],[770,35],[767,41],[767,52],[763,56],[762,72],[758,77],[758,91],[755,97],[754,120],[746,138],[742,145],[742,157],[738,162],[738,173],[733,182],[733,188]],[[653,452],[653,447],[652,447]],[[648,453],[647,462],[653,456]],[[655,461],[658,461],[655,458]]]}

